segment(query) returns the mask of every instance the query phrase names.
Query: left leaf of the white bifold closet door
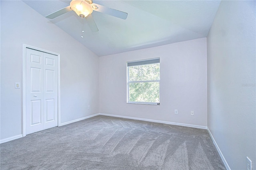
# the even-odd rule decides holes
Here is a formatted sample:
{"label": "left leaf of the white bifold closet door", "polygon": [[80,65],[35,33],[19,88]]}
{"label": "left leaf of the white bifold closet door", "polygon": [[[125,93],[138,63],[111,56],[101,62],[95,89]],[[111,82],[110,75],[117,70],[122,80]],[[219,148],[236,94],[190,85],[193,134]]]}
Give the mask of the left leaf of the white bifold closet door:
{"label": "left leaf of the white bifold closet door", "polygon": [[44,129],[43,53],[26,48],[26,134]]}

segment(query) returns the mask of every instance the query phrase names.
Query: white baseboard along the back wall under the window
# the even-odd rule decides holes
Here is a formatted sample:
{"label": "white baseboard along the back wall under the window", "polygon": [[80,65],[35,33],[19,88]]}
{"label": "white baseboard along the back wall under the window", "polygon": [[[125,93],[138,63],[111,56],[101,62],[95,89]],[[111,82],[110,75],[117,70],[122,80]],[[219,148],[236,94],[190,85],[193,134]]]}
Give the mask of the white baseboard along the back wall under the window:
{"label": "white baseboard along the back wall under the window", "polygon": [[126,119],[134,119],[134,120],[139,120],[139,121],[147,121],[147,122],[155,122],[155,123],[164,123],[164,124],[168,124],[168,125],[178,125],[178,126],[183,126],[183,127],[202,128],[202,129],[207,128],[205,126],[200,126],[200,125],[190,125],[190,124],[185,124],[185,123],[175,123],[175,122],[158,121],[158,120],[152,120],[152,119],[143,119],[143,118],[138,118],[138,117],[110,115],[110,114],[105,114],[105,113],[99,113],[98,115],[121,117],[121,118],[126,118]]}

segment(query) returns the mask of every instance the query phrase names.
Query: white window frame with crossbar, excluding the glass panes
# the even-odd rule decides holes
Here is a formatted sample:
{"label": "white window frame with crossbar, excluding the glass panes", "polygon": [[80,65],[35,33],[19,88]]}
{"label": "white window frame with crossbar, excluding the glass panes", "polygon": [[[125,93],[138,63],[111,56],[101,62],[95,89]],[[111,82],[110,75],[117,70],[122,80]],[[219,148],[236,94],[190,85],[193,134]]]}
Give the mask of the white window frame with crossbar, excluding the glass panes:
{"label": "white window frame with crossbar, excluding the glass panes", "polygon": [[[153,63],[146,63],[146,64],[138,64],[138,65],[150,65],[150,64],[157,64],[159,63],[160,65],[160,57],[158,58],[152,58],[152,59],[143,59],[143,60],[137,60],[137,61],[128,61],[126,62],[126,72],[127,72],[127,77],[126,77],[126,88],[127,88],[127,101],[126,103],[128,104],[141,104],[141,105],[160,105],[160,78],[159,80],[147,80],[147,81],[128,81],[129,80],[129,67],[132,66],[138,66],[138,65],[129,65],[128,63],[140,63],[140,62],[144,62],[144,61],[154,61],[154,60],[158,60],[158,62],[153,62]],[[160,70],[159,70],[160,73]],[[159,83],[159,102],[138,102],[138,101],[129,101],[129,83],[147,83],[147,82],[158,82]]]}

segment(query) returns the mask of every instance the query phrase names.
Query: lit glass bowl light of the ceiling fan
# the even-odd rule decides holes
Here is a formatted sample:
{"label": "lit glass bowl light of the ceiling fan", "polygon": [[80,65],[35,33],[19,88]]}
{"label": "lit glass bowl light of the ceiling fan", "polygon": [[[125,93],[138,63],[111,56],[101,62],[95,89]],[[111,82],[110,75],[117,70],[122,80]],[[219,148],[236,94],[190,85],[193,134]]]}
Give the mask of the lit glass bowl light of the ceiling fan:
{"label": "lit glass bowl light of the ceiling fan", "polygon": [[82,18],[92,14],[92,6],[84,0],[72,0],[70,2],[71,9]]}

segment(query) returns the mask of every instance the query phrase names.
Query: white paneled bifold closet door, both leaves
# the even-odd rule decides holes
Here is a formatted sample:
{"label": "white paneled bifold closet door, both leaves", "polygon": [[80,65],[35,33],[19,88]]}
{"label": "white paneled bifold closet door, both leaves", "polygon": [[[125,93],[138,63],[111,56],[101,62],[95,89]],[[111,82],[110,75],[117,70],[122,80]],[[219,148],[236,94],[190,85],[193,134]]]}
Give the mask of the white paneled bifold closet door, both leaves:
{"label": "white paneled bifold closet door, both leaves", "polygon": [[58,56],[26,48],[26,134],[58,126]]}

